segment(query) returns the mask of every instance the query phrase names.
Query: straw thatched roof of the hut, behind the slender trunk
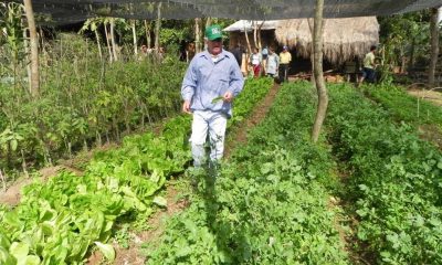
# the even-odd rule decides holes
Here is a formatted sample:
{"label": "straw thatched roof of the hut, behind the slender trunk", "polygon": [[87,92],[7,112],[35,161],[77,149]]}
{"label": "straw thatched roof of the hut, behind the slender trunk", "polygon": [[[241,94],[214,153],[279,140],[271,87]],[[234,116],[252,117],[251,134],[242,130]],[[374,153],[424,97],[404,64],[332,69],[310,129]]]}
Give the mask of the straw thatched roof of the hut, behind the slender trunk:
{"label": "straw thatched roof of the hut, behind the slender trunk", "polygon": [[[324,26],[324,56],[332,63],[341,63],[354,56],[361,57],[369,52],[371,45],[379,43],[376,17],[326,19]],[[275,35],[280,43],[295,47],[303,57],[309,57],[312,31],[313,19],[282,20]]]}

